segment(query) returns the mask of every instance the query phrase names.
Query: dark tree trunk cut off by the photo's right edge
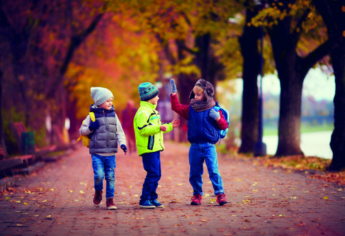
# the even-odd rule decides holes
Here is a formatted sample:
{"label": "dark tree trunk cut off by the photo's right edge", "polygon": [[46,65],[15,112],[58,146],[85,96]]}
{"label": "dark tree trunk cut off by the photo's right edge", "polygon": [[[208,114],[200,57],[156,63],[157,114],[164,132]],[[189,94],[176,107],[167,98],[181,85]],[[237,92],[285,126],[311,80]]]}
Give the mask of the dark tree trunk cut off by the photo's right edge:
{"label": "dark tree trunk cut off by the photo's right edge", "polygon": [[315,0],[327,27],[332,45],[331,60],[335,75],[334,130],[331,137],[333,159],[328,170],[345,168],[345,14],[344,1]]}

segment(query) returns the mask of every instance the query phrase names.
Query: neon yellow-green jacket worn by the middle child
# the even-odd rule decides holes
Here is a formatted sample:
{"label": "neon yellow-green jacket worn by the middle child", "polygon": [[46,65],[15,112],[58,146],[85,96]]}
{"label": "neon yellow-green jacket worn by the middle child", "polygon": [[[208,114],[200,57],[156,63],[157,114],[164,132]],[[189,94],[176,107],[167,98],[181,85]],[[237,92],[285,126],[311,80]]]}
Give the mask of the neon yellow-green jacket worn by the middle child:
{"label": "neon yellow-green jacket worn by the middle child", "polygon": [[[143,153],[154,153],[164,150],[163,133],[170,132],[173,127],[171,123],[162,123],[159,113],[156,111],[157,105],[140,102],[140,107],[134,116],[134,132],[136,149],[138,155]],[[166,124],[167,131],[160,131],[160,125]]]}

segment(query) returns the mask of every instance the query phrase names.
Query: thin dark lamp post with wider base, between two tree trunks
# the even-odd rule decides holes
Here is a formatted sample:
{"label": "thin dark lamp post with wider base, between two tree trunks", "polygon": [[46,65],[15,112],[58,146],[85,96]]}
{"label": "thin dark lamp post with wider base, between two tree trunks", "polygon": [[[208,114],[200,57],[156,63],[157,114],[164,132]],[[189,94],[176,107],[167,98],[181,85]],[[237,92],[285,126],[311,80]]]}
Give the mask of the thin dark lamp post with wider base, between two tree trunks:
{"label": "thin dark lamp post with wider base, between two tree trunks", "polygon": [[[255,1],[262,9],[263,1]],[[262,99],[262,77],[263,77],[263,27],[260,26],[260,90],[259,90],[259,132],[258,141],[254,145],[254,156],[266,155],[266,144],[263,143],[263,99]]]}

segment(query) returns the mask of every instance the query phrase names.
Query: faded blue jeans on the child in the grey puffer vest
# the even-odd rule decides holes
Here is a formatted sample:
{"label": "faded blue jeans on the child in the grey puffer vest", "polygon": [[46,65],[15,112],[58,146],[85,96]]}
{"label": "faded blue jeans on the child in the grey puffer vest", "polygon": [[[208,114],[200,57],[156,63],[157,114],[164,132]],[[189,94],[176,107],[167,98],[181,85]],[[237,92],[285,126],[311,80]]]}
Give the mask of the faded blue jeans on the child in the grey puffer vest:
{"label": "faded blue jeans on the child in the grey puffer vest", "polygon": [[106,178],[106,198],[113,198],[115,192],[115,155],[101,156],[91,154],[93,167],[93,180],[95,181],[95,190],[103,189],[103,179]]}

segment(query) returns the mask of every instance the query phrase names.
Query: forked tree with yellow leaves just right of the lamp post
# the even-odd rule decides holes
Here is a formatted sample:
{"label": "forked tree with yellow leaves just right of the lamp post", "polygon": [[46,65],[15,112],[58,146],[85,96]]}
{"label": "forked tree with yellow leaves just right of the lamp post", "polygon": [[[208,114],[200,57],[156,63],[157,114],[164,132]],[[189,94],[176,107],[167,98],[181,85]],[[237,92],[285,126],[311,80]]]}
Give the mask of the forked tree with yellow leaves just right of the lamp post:
{"label": "forked tree with yellow leaves just right of the lamp post", "polygon": [[[301,155],[302,83],[309,69],[329,53],[331,44],[326,40],[320,15],[311,1],[267,2],[270,5],[256,18],[264,21],[270,36],[281,83],[276,156]],[[307,44],[303,44],[301,39],[308,36]]]}

